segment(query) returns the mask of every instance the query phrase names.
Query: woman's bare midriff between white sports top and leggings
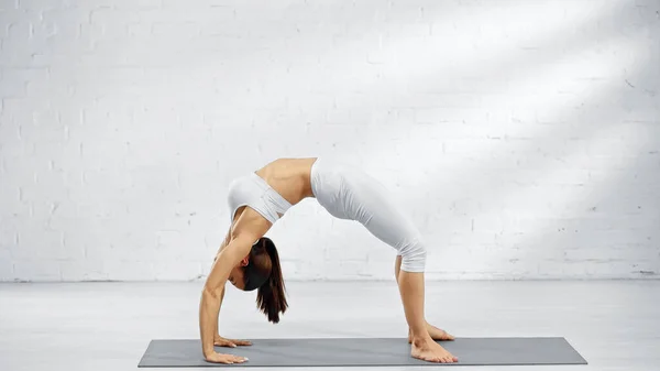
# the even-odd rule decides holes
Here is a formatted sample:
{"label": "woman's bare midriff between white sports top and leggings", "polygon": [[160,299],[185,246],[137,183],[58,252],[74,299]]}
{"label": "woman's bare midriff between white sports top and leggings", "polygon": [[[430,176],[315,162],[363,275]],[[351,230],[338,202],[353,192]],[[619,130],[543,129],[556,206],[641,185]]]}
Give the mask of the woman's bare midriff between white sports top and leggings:
{"label": "woman's bare midriff between white sports top and leggings", "polygon": [[314,197],[310,173],[316,157],[277,159],[255,173],[292,205]]}

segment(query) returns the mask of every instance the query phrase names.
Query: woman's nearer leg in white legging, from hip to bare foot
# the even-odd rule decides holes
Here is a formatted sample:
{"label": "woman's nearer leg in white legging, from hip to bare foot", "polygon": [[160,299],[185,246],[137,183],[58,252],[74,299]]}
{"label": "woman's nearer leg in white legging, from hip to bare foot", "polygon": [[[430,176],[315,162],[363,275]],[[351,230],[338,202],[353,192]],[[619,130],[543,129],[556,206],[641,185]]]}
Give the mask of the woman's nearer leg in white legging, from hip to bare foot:
{"label": "woman's nearer leg in white legging, from hip to bare foot", "polygon": [[397,284],[409,327],[413,357],[455,362],[455,357],[437,343],[427,330],[424,315],[426,249],[417,228],[395,205],[387,189],[363,172],[322,160],[312,167],[311,187],[317,201],[332,216],[359,221],[400,255],[396,266]]}

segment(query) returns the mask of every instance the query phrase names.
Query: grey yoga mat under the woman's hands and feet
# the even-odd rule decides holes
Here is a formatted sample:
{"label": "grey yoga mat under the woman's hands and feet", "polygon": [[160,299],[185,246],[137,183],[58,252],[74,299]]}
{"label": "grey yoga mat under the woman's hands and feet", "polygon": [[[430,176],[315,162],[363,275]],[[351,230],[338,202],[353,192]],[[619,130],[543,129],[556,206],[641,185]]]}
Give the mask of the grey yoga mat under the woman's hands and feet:
{"label": "grey yoga mat under the woman's hands and feet", "polygon": [[[152,340],[139,367],[332,367],[438,365],[410,357],[404,338],[253,339],[250,347],[221,348],[244,363],[208,363],[199,340]],[[463,365],[586,364],[564,338],[458,338],[441,345]]]}

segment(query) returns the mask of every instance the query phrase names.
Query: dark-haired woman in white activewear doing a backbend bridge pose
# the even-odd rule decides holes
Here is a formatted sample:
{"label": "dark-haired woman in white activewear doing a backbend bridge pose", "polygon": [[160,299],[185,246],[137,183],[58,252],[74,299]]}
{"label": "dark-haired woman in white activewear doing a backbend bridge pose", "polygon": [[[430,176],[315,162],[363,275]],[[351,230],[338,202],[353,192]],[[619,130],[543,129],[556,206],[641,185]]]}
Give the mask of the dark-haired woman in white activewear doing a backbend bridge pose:
{"label": "dark-haired woman in white activewear doing a backbend bridge pose", "polygon": [[457,362],[455,357],[435,341],[453,337],[429,325],[424,316],[426,249],[419,232],[378,182],[324,159],[279,159],[230,185],[232,225],[205,284],[199,308],[206,360],[220,363],[246,360],[213,349],[213,345],[250,345],[218,335],[218,314],[227,281],[240,290],[257,290],[260,309],[270,321],[279,321],[279,314],[287,308],[279,258],[273,241],[263,236],[288,208],[307,197],[316,198],[337,218],[361,222],[397,250],[395,277],[408,323],[411,356],[430,362]]}

